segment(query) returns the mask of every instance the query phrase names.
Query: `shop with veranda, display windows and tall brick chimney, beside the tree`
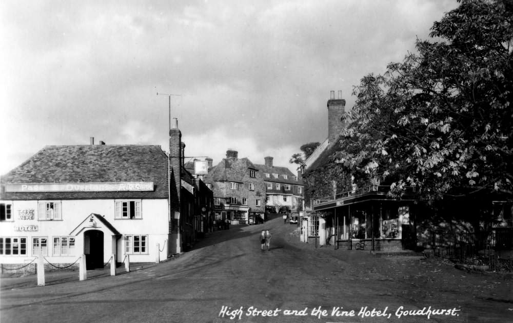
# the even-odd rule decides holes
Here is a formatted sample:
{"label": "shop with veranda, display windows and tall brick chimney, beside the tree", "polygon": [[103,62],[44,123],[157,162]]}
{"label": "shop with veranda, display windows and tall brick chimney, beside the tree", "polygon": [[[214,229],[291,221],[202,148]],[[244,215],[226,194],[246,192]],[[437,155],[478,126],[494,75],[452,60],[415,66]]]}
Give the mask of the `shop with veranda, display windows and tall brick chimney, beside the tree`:
{"label": "shop with veranda, display windows and tall brick chimney, beside the tree", "polygon": [[415,218],[421,212],[414,203],[412,188],[399,200],[387,197],[388,187],[358,187],[350,174],[327,174],[331,156],[341,150],[340,134],[345,125],[345,100],[334,98],[331,91],[328,107],[328,137],[305,161],[304,181],[306,216],[302,219],[304,242],[335,248],[401,250],[415,248]]}

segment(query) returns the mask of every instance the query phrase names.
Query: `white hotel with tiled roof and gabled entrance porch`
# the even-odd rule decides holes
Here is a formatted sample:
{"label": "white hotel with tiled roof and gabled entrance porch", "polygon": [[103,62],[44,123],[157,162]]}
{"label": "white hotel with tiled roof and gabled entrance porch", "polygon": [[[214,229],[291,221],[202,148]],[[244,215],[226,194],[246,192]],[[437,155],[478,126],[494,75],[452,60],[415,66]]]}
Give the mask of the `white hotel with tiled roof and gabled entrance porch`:
{"label": "white hotel with tiled roof and gabled entrance porch", "polygon": [[0,179],[2,269],[38,255],[64,266],[85,254],[94,269],[111,255],[117,263],[125,255],[154,262],[180,252],[167,172],[160,146],[43,148]]}

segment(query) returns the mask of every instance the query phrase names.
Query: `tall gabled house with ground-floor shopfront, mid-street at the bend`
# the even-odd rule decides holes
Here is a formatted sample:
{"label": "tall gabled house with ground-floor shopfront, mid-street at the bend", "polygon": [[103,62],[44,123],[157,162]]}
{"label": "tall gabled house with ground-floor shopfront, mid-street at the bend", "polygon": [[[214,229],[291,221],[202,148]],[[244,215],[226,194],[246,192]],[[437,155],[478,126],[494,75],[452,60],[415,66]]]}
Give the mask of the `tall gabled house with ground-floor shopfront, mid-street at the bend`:
{"label": "tall gabled house with ground-floor shopfront, mid-street at the bend", "polygon": [[265,184],[259,169],[238,152],[227,150],[226,158],[209,167],[205,183],[212,188],[215,221],[251,224],[255,217],[264,219]]}

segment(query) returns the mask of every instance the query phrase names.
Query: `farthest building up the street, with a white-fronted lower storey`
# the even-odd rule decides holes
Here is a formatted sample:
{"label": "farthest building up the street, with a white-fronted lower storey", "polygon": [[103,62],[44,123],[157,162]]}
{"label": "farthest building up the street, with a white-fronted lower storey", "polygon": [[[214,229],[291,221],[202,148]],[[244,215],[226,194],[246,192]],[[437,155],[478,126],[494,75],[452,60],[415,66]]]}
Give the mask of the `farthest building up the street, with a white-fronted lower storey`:
{"label": "farthest building up the street, with a white-fronted lower storey", "polygon": [[265,157],[264,165],[255,165],[265,182],[266,210],[278,213],[280,210],[297,212],[302,210],[304,185],[301,172],[294,175],[287,167],[274,166],[273,157]]}

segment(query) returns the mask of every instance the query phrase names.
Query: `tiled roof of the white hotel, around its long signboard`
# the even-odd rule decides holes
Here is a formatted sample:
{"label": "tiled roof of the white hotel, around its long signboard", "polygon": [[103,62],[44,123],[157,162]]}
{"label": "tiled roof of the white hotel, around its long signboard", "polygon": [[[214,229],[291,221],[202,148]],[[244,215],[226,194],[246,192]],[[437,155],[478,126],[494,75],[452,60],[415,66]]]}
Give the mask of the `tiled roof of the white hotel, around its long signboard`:
{"label": "tiled roof of the white hotel, around its long signboard", "polygon": [[[167,198],[166,154],[160,146],[46,146],[0,178],[2,199]],[[152,181],[146,192],[30,192],[4,191],[4,184],[109,183]]]}

